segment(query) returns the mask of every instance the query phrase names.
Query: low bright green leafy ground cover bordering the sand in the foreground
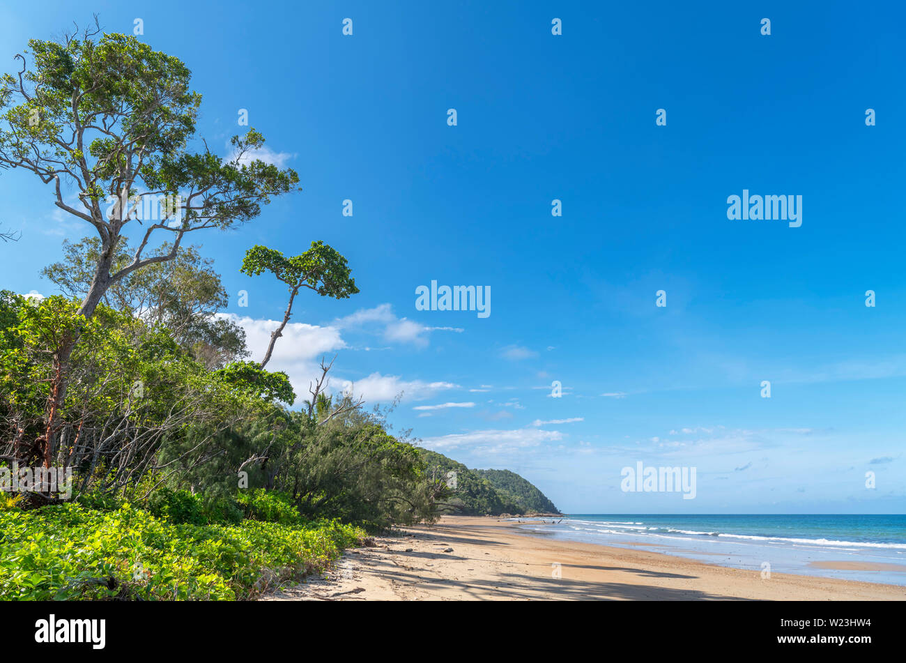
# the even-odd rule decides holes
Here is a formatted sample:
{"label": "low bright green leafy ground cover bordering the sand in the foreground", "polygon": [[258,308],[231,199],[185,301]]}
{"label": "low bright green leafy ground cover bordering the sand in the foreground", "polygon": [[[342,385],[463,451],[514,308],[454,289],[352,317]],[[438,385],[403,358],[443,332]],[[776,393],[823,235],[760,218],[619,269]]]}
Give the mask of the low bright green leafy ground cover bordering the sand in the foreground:
{"label": "low bright green leafy ground cover bordering the sand in the foreground", "polygon": [[0,597],[249,599],[323,569],[363,535],[335,521],[170,524],[130,504],[0,511]]}

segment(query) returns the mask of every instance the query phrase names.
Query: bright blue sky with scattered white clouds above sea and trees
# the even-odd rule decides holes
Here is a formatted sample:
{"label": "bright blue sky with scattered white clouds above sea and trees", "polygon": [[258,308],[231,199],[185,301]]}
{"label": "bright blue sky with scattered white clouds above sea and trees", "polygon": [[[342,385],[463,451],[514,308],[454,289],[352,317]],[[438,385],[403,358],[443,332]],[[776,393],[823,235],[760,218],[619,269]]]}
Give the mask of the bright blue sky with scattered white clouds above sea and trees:
{"label": "bright blue sky with scattered white clouds above sea and trees", "polygon": [[[903,513],[901,7],[380,5],[5,5],[0,62],[92,11],[141,18],[194,73],[199,137],[226,156],[249,112],[304,190],[191,239],[256,358],[286,293],[239,274],[246,248],[348,258],[361,293],[304,294],[268,365],[300,394],[335,352],[334,388],[402,391],[396,428],[572,513]],[[729,220],[743,189],[802,196],[802,226]],[[53,292],[41,267],[88,226],[25,173],[0,196],[23,233],[0,283]],[[490,286],[491,315],[416,310],[431,280]],[[638,461],[695,466],[696,498],[622,492]]]}

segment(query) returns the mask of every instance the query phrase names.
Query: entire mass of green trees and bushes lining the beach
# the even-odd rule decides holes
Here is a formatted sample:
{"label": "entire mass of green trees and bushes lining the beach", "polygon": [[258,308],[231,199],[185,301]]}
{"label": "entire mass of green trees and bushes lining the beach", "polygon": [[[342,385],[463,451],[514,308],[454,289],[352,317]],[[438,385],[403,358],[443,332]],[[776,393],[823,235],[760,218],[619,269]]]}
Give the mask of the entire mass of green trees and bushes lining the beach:
{"label": "entire mass of green trees and bushes lining the beach", "polygon": [[100,29],[28,53],[0,79],[0,168],[52,185],[55,207],[92,235],[44,267],[57,294],[0,291],[0,478],[72,472],[71,495],[46,477],[0,491],[0,596],[247,598],[449,504],[541,504],[527,482],[496,488],[392,435],[386,411],[331,394],[333,361],[302,403],[265,369],[300,293],[359,292],[323,242],[246,252],[243,273],[288,293],[264,360],[248,360],[244,331],[220,314],[220,275],[184,240],[254,220],[298,177],[252,158],[255,130],[226,158],[196,139],[201,95],[182,62]]}

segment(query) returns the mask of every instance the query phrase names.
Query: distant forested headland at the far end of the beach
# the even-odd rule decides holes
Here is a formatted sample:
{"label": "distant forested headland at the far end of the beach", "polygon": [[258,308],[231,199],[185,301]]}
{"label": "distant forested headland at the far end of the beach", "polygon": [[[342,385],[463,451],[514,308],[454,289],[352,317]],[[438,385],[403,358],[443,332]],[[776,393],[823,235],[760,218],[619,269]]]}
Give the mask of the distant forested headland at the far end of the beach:
{"label": "distant forested headland at the far end of the beach", "polygon": [[429,473],[447,476],[452,495],[440,509],[441,512],[465,515],[499,514],[559,514],[559,510],[544,493],[522,476],[509,470],[474,470],[435,451],[419,449],[428,464]]}

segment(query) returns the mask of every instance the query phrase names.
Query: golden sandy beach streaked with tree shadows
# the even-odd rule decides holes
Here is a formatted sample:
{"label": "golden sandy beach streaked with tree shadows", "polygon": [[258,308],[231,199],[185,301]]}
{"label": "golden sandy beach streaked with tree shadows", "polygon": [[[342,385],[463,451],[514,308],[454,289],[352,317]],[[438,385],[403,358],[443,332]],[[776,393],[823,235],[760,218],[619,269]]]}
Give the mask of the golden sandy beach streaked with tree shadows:
{"label": "golden sandy beach streaked with tree shadows", "polygon": [[554,541],[496,518],[445,516],[375,537],[323,577],[265,601],[903,601],[906,587],[706,564]]}

